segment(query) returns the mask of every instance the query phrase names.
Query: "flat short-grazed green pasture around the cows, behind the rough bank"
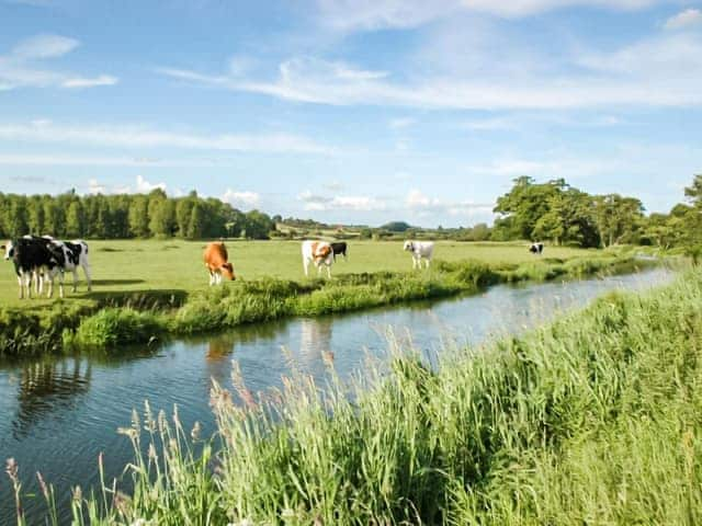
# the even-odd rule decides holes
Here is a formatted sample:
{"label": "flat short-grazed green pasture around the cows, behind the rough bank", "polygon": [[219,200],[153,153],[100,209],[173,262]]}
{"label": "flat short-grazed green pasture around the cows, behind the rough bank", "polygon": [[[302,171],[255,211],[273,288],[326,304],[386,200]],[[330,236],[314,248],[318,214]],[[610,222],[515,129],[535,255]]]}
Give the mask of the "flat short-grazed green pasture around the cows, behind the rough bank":
{"label": "flat short-grazed green pasture around the cows, behind the rough bank", "polygon": [[[208,275],[202,262],[204,241],[107,240],[88,242],[93,274],[93,293],[86,290],[79,270],[78,293],[71,291],[72,276],[66,276],[66,298],[100,299],[122,291],[182,290],[207,288]],[[262,277],[303,281],[299,241],[227,241],[229,260],[239,279]],[[542,259],[569,260],[597,256],[601,252],[569,248],[546,248]],[[477,260],[494,265],[520,264],[537,258],[525,243],[466,243],[444,241],[437,244],[434,258],[443,261]],[[410,271],[411,256],[399,241],[350,241],[349,260],[340,258],[333,275]],[[314,268],[310,268],[312,272]],[[419,271],[418,271],[419,272]],[[310,274],[312,275],[312,274]],[[55,290],[54,298],[58,297]],[[11,262],[0,266],[0,305],[41,307],[49,300],[18,298],[18,283]]]}

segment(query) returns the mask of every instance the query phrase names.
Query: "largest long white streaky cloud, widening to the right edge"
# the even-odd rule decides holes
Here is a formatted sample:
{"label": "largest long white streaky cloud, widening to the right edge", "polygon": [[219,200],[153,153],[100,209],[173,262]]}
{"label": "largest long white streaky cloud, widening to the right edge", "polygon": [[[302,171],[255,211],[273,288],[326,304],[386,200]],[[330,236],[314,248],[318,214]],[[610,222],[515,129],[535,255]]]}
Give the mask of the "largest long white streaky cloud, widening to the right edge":
{"label": "largest long white streaky cloud, widening to the right edge", "polygon": [[[501,53],[509,54],[512,47]],[[417,75],[407,81],[398,81],[382,71],[366,71],[355,66],[309,58],[284,61],[278,77],[272,80],[245,80],[192,71],[161,72],[233,91],[339,106],[569,110],[702,104],[702,37],[693,34],[643,39],[609,52],[581,50],[563,61],[564,67],[548,69],[543,64],[550,64],[551,58],[536,56],[533,60],[520,62],[519,70],[508,76],[503,75],[505,65],[492,67],[489,60],[480,59],[476,61],[476,67],[479,66],[477,71]],[[356,73],[342,75],[341,71]],[[399,124],[401,126],[403,123]]]}

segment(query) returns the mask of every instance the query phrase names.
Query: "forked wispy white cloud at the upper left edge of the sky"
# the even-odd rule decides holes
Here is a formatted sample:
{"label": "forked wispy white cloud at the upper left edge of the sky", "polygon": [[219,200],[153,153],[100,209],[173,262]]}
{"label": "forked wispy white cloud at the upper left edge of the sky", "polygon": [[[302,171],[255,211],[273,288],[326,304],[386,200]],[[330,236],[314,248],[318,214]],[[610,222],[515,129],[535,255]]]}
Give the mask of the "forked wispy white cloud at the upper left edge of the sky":
{"label": "forked wispy white cloud at the upper left edge of the sky", "polygon": [[118,79],[109,75],[77,76],[48,69],[45,62],[75,50],[80,43],[60,35],[37,35],[18,43],[9,53],[0,55],[0,91],[18,88],[94,88],[113,85]]}

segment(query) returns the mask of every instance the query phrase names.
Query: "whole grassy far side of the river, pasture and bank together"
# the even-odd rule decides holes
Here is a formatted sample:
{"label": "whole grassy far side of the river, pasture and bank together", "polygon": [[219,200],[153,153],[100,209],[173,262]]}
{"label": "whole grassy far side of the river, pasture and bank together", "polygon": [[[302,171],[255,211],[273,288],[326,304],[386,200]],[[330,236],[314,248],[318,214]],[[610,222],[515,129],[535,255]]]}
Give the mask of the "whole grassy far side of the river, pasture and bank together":
{"label": "whole grassy far side of the river, pasture and bank together", "polygon": [[67,346],[115,347],[290,316],[475,293],[496,283],[630,272],[645,264],[616,252],[547,249],[548,256],[536,259],[522,244],[442,243],[438,252],[445,260],[435,261],[429,272],[409,272],[409,255],[398,243],[356,242],[350,261],[335,265],[331,281],[299,279],[297,242],[231,242],[239,278],[210,288],[200,261],[203,243],[90,245],[93,293],[20,301],[11,296],[16,285],[7,273],[3,299],[9,305],[0,308],[0,356]]}

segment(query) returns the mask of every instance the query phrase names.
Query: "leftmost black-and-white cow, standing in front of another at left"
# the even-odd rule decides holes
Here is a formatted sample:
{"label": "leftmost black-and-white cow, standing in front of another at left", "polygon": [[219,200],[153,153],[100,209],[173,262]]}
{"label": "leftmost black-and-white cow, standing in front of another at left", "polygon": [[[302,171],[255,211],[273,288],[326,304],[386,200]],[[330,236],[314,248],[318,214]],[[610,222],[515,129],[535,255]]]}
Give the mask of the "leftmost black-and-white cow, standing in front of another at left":
{"label": "leftmost black-and-white cow, standing in front of another at left", "polygon": [[[27,298],[32,297],[32,278],[37,281],[41,291],[42,273],[50,273],[64,264],[63,251],[46,239],[25,237],[9,241],[0,248],[5,251],[4,259],[12,259],[14,263],[14,272],[20,285],[20,299],[24,298],[25,290]],[[49,281],[49,297],[53,293],[54,284]]]}

